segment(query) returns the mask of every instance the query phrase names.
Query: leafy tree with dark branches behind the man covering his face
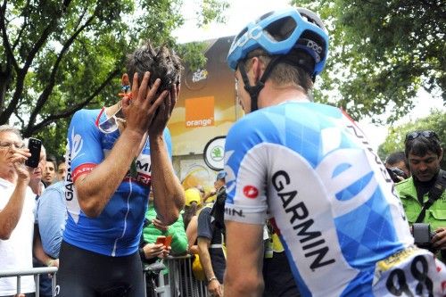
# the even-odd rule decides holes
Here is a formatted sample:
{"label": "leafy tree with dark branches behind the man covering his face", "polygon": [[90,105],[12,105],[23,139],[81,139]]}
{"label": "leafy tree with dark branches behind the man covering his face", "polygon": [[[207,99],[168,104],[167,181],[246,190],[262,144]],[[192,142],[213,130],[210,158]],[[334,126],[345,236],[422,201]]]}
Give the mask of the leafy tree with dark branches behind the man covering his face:
{"label": "leafy tree with dark branches behind the man covering his face", "polygon": [[[126,54],[142,41],[166,44],[192,65],[201,46],[176,45],[182,0],[4,0],[0,6],[0,124],[64,149],[70,116],[114,103]],[[201,24],[221,21],[225,1],[201,0]],[[50,138],[50,139],[47,139]]]}

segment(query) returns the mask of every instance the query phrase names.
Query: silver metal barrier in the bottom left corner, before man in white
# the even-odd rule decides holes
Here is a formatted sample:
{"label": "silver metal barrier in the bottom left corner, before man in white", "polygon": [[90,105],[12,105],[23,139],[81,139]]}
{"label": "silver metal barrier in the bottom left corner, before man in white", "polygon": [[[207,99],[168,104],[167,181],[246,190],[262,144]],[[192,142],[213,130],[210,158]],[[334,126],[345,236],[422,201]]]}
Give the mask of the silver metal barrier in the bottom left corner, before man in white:
{"label": "silver metal barrier in the bottom left corner, before man in white", "polygon": [[53,296],[55,296],[58,290],[56,286],[56,267],[45,267],[45,268],[29,268],[22,270],[0,270],[0,277],[17,277],[17,293],[21,293],[21,276],[34,276],[34,282],[36,284],[36,297],[39,297],[40,293],[38,290],[38,284],[40,283],[40,275],[50,274],[51,278],[51,291]]}

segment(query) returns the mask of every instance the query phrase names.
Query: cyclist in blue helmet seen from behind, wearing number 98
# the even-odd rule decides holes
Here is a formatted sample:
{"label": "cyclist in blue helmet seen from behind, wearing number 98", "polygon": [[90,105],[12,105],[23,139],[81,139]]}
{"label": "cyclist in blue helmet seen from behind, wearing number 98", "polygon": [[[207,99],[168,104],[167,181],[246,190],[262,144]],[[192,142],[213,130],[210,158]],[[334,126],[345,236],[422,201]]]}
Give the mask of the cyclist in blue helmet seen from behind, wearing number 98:
{"label": "cyclist in blue helmet seen from behind, wearing number 98", "polygon": [[231,45],[248,114],[225,147],[225,295],[261,295],[266,219],[303,296],[443,295],[446,268],[413,245],[367,138],[343,111],[311,102],[327,49],[322,21],[301,8],[265,14]]}

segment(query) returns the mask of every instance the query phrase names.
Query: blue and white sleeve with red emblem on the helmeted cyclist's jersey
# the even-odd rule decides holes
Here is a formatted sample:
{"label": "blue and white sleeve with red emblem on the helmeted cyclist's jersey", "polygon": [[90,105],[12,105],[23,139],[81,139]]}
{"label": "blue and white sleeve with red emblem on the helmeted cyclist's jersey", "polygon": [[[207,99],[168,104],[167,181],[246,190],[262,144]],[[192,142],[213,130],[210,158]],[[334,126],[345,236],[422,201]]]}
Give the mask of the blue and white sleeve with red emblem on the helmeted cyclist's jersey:
{"label": "blue and white sleeve with red emblem on the helmeted cyclist's jersey", "polygon": [[225,144],[227,200],[225,219],[264,224],[267,218],[268,151],[252,118],[235,123]]}

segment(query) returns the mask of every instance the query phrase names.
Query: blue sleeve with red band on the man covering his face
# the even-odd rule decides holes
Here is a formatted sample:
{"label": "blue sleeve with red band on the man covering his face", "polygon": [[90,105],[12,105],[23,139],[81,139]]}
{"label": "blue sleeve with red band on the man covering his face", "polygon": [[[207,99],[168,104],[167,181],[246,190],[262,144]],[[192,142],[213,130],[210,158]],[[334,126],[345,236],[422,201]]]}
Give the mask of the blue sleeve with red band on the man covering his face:
{"label": "blue sleeve with red band on the man covering his face", "polygon": [[73,182],[103,161],[101,133],[95,126],[94,111],[77,111],[68,130],[70,168]]}

